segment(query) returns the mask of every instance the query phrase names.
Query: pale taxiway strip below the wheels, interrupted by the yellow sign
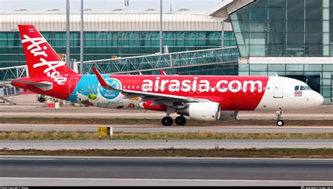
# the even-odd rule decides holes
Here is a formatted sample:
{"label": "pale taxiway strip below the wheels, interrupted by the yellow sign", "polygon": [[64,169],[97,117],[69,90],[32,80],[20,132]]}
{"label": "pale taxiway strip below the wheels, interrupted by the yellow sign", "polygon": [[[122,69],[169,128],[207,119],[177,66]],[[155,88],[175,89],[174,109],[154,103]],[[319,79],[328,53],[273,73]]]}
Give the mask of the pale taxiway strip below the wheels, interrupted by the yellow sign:
{"label": "pale taxiway strip below the wheels, interrupted by the yellow sign", "polygon": [[[0,123],[0,131],[66,131],[97,132],[101,125],[72,124],[17,124]],[[160,125],[107,125],[113,132],[232,132],[232,133],[333,133],[333,127],[310,126],[216,126],[216,127],[162,127]]]}

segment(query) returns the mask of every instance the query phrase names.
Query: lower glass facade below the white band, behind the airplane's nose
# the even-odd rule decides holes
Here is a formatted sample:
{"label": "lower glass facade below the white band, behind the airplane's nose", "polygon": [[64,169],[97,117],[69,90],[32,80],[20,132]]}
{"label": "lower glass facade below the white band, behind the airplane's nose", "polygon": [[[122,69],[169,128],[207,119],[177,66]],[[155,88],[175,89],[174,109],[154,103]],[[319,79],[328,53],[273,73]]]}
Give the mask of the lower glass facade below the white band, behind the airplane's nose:
{"label": "lower glass facade below the white band, behind the airplane's nose", "polygon": [[287,76],[302,80],[332,101],[333,64],[239,64],[240,76]]}

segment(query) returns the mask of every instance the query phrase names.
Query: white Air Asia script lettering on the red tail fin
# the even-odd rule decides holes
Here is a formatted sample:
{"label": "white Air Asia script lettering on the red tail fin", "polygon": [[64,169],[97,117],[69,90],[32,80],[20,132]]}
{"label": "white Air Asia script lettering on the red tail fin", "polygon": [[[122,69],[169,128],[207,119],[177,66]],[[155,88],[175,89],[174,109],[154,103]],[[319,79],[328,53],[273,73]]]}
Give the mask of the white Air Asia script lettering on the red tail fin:
{"label": "white Air Asia script lettering on the red tail fin", "polygon": [[[45,38],[30,38],[27,35],[23,35],[22,43],[30,42],[31,45],[27,47],[27,50],[30,50],[30,52],[34,55],[34,57],[48,57],[46,52],[44,50],[47,50],[47,47],[44,46],[41,48],[41,44],[46,43]],[[65,76],[68,76],[65,74],[65,76],[60,75],[59,71],[56,70],[56,68],[60,66],[64,66],[65,62],[63,61],[46,61],[43,57],[39,58],[39,63],[34,64],[34,68],[38,68],[40,66],[47,66],[46,69],[44,69],[44,73],[46,73],[46,76],[49,78],[52,78],[56,83],[59,85],[64,85],[67,81],[67,78]]]}

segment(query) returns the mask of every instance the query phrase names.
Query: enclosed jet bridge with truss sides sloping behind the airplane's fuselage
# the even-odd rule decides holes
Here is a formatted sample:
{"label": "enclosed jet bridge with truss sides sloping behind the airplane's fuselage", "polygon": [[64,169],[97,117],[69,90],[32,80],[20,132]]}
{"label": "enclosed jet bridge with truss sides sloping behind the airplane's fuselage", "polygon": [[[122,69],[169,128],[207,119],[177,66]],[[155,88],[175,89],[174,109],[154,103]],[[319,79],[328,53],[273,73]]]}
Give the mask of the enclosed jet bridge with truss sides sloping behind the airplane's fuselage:
{"label": "enclosed jet bridge with truss sides sloping behind the airplane's fuselage", "polygon": [[[94,74],[92,68],[96,67],[100,73],[112,74],[159,74],[163,69],[168,74],[237,75],[238,57],[237,47],[228,47],[100,59],[84,62],[84,73]],[[80,62],[74,62],[74,71],[79,70]]]}

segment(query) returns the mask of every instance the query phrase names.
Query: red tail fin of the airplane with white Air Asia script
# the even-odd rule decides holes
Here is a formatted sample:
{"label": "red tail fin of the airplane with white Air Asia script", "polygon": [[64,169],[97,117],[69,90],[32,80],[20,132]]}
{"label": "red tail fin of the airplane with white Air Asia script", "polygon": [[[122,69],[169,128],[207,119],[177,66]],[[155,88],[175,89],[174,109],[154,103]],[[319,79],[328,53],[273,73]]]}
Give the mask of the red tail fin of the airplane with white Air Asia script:
{"label": "red tail fin of the airplane with white Air Asia script", "polygon": [[49,77],[63,85],[67,76],[77,75],[66,66],[33,25],[18,25],[18,29],[31,77]]}

